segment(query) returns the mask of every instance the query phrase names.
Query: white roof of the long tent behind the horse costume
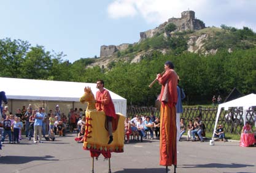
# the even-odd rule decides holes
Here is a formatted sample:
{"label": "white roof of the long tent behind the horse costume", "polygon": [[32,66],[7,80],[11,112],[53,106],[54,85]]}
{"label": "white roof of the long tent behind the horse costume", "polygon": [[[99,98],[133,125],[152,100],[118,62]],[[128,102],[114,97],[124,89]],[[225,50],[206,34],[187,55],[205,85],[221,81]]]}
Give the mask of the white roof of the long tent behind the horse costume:
{"label": "white roof of the long tent behind the horse costume", "polygon": [[[45,81],[36,79],[0,78],[1,90],[6,92],[8,99],[44,100],[79,102],[84,94],[85,86],[91,87],[96,95],[96,83],[75,83],[64,81]],[[116,112],[126,116],[126,99],[109,91]]]}

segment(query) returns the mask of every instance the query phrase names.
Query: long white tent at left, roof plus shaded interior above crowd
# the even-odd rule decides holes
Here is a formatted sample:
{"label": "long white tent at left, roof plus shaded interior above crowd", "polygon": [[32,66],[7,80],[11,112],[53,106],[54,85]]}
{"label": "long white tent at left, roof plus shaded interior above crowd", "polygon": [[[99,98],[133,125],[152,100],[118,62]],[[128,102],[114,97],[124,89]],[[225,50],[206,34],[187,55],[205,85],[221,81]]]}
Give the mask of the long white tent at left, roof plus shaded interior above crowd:
{"label": "long white tent at left, roof plus shaded interior above crowd", "polygon": [[[34,107],[42,106],[46,109],[55,109],[60,105],[61,112],[67,114],[70,108],[85,109],[86,105],[79,102],[84,94],[85,86],[91,87],[96,95],[96,83],[74,83],[64,81],[44,81],[36,79],[0,78],[0,90],[6,92],[10,111],[29,103]],[[115,111],[126,116],[126,99],[109,91],[114,102]]]}

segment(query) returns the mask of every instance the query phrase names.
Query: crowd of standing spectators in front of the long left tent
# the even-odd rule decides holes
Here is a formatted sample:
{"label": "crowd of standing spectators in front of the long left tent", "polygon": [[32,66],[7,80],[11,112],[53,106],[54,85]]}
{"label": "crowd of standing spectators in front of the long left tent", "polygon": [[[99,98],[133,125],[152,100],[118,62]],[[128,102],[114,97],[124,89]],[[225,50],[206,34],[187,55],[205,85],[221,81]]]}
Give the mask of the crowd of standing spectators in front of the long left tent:
{"label": "crowd of standing spectators in front of the long left tent", "polygon": [[25,134],[29,141],[42,143],[42,138],[47,141],[55,141],[55,136],[65,136],[69,128],[71,132],[80,131],[82,121],[85,120],[83,109],[70,109],[68,117],[60,111],[60,106],[45,112],[45,108],[33,109],[31,104],[17,109],[13,114],[9,112],[8,106],[2,110],[0,120],[1,144],[4,144],[8,136],[10,144],[19,144],[22,140],[21,134]]}

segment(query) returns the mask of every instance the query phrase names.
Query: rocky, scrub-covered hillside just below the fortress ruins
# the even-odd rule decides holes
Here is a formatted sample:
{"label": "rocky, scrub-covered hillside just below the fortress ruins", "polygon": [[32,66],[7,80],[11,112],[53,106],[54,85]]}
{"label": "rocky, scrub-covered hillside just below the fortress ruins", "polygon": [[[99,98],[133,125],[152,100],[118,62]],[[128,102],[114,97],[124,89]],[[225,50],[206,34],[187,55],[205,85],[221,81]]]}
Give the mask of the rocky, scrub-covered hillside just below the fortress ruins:
{"label": "rocky, scrub-covered hillside just below the fortress ruins", "polygon": [[256,34],[249,28],[236,29],[222,25],[222,28],[204,28],[197,31],[158,32],[153,37],[126,46],[107,57],[95,59],[87,67],[111,68],[115,62],[140,62],[153,51],[163,54],[180,54],[184,52],[215,54],[218,50],[246,50],[256,46]]}

